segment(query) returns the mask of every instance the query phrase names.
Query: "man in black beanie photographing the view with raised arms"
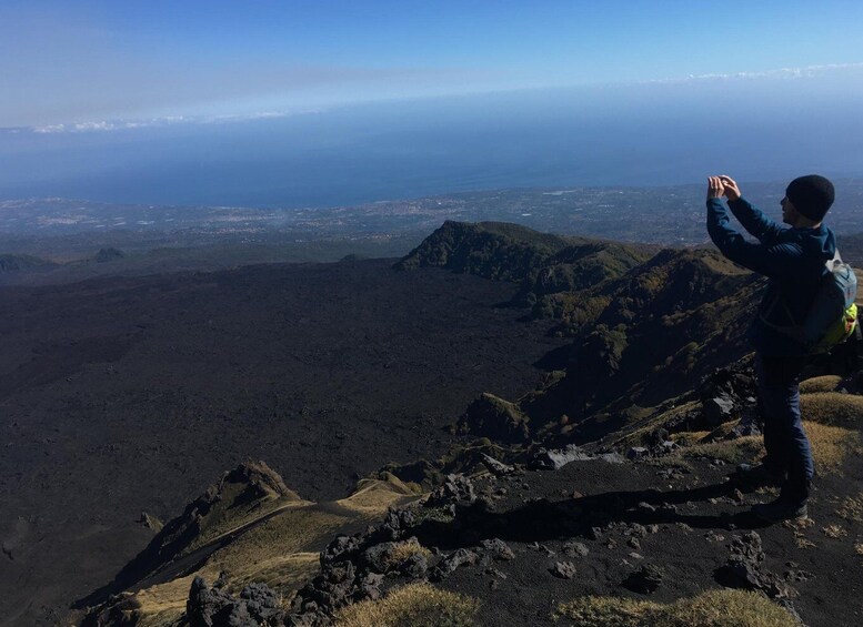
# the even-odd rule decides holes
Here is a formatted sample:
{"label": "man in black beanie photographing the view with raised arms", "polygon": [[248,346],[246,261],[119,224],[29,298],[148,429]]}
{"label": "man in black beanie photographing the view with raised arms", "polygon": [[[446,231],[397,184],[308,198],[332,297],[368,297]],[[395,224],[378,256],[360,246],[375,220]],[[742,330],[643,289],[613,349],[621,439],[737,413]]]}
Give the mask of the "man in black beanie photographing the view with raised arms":
{"label": "man in black beanie photographing the view with raised arms", "polygon": [[[824,216],[833,204],[833,184],[817,174],[794,179],[781,201],[783,226],[741,195],[730,176],[708,179],[708,233],[729,260],[767,277],[767,287],[750,325],[755,350],[759,401],[764,414],[764,448],[759,466],[742,466],[750,479],[781,486],[777,499],[755,505],[752,513],[775,523],[807,515],[814,463],[800,415],[800,374],[807,347],[789,327],[805,320],[836,252]],[[757,242],[747,241],[731,224],[727,208]]]}

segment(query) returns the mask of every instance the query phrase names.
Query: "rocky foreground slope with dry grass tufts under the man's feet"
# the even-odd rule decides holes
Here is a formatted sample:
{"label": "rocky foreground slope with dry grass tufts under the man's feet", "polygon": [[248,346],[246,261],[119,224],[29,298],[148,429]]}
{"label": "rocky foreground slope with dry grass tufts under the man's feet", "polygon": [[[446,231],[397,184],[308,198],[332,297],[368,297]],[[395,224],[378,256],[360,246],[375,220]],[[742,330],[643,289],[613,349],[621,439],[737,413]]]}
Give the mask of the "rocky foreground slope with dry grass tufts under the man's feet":
{"label": "rocky foreground slope with dry grass tufts under the man's feet", "polygon": [[[736,462],[761,454],[747,373],[745,364],[720,371],[683,412],[646,418],[644,446],[623,444],[634,431],[611,448],[499,449],[420,498],[411,498],[419,486],[381,475],[380,494],[392,496],[378,505],[389,512],[363,530],[345,524],[319,537],[303,586],[273,573],[245,583],[238,573],[251,554],[231,565],[217,552],[183,570],[179,587],[134,586],[86,624],[859,625],[863,373],[804,383],[819,475],[809,516],[774,525],[750,508],[776,489],[734,477]],[[719,419],[713,432],[690,431],[705,417]]]}

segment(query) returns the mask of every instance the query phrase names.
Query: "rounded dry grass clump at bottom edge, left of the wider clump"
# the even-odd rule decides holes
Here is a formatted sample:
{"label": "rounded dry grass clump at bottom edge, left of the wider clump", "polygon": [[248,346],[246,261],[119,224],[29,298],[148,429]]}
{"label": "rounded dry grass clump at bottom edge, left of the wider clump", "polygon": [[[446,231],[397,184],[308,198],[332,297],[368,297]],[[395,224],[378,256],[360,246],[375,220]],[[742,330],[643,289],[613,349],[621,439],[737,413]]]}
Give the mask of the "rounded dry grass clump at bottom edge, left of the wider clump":
{"label": "rounded dry grass clump at bottom edge, left of the wider clump", "polygon": [[397,588],[380,600],[364,600],[335,615],[337,627],[468,627],[480,601],[429,584]]}

